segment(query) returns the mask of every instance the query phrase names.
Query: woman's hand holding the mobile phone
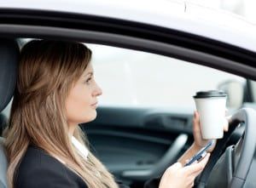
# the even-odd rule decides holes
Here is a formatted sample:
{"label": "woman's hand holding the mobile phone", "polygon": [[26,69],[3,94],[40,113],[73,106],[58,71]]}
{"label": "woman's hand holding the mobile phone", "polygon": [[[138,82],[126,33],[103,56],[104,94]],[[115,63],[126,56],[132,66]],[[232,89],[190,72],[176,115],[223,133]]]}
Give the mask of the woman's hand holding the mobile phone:
{"label": "woman's hand holding the mobile phone", "polygon": [[195,162],[187,167],[183,167],[182,163],[176,162],[166,169],[160,179],[159,188],[189,188],[194,186],[197,175],[205,168],[210,154],[208,153],[201,162]]}

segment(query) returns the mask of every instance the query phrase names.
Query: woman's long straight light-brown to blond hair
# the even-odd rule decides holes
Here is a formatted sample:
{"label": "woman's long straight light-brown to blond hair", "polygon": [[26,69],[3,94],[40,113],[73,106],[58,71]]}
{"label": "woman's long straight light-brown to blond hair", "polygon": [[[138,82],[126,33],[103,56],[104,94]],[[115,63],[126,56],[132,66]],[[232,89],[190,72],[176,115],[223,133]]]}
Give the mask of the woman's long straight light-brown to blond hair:
{"label": "woman's long straight light-brown to blond hair", "polygon": [[[90,49],[81,43],[34,40],[22,48],[9,128],[4,132],[10,188],[15,187],[15,172],[31,144],[58,157],[90,188],[118,187],[92,153],[87,160],[80,157],[67,132],[65,101],[90,58]],[[87,141],[79,127],[74,136]]]}

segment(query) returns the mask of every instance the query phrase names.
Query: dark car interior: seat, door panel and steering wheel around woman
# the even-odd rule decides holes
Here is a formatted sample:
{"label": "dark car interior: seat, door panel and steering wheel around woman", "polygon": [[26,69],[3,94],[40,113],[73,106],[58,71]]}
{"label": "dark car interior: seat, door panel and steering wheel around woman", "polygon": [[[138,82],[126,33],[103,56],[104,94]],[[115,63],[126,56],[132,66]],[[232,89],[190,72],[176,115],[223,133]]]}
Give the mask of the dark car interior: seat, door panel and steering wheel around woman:
{"label": "dark car interior: seat, door panel and steering wheel around woman", "polygon": [[[9,105],[15,90],[19,46],[23,42],[2,39],[0,43],[0,135],[8,121],[3,110]],[[148,179],[160,176],[193,142],[193,111],[100,106],[97,113],[95,121],[81,124],[90,140],[90,150],[131,188],[143,187]],[[218,141],[207,168],[195,180],[195,187],[230,185],[238,188],[244,184],[255,187],[255,118],[252,109],[234,112],[229,132]],[[8,162],[3,141],[1,137],[0,187],[6,188]],[[223,174],[227,176],[225,179],[221,178]]]}

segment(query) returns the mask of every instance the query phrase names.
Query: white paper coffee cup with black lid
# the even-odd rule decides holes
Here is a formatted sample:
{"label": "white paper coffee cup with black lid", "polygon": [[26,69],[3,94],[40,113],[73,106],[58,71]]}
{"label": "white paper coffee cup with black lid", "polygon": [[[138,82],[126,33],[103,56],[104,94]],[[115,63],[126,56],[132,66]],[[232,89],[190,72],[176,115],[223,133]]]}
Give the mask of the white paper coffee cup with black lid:
{"label": "white paper coffee cup with black lid", "polygon": [[219,90],[200,91],[195,94],[194,100],[199,113],[202,138],[223,138],[227,94]]}

